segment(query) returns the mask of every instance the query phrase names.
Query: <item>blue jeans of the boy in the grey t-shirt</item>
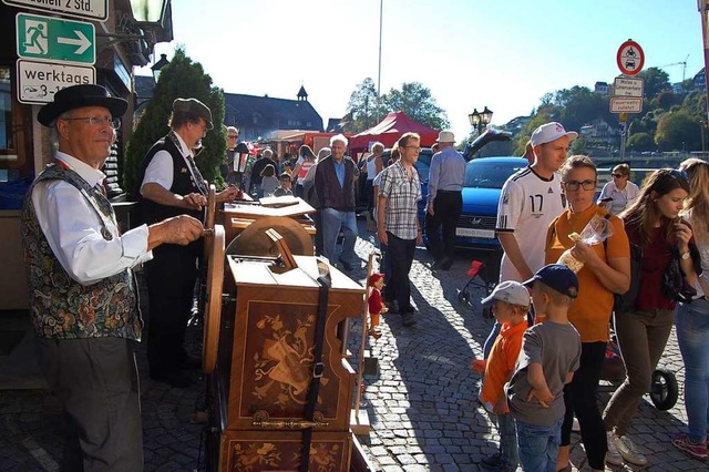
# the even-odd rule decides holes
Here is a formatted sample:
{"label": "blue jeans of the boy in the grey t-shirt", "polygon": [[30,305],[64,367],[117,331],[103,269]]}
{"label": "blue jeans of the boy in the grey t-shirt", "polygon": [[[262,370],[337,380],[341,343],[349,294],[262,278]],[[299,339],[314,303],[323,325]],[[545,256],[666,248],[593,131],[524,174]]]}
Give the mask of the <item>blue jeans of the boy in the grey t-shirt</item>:
{"label": "blue jeans of the boy in the grey t-shirt", "polygon": [[520,462],[524,472],[556,472],[563,421],[559,418],[554,424],[547,425],[516,421]]}

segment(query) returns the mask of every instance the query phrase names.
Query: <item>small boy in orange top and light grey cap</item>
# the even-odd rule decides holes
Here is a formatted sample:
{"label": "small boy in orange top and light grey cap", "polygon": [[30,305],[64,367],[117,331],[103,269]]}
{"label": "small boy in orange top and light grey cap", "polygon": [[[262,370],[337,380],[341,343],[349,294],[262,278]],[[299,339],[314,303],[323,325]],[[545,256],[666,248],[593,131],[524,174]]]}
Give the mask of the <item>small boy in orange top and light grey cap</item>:
{"label": "small boy in orange top and light grey cap", "polygon": [[530,291],[518,281],[499,284],[490,297],[482,300],[483,307],[492,307],[492,312],[502,328],[495,338],[487,360],[475,359],[473,370],[484,371],[480,401],[485,409],[497,415],[500,432],[500,464],[486,458],[483,465],[500,471],[515,471],[520,462],[514,418],[507,409],[504,386],[510,380],[522,347],[526,317],[530,311]]}

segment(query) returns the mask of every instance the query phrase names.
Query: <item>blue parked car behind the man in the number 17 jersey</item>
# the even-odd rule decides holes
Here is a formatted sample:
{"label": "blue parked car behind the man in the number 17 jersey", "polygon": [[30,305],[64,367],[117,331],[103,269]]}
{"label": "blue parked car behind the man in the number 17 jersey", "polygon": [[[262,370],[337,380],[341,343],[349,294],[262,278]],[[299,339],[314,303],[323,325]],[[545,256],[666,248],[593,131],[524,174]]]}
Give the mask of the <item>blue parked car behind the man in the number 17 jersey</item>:
{"label": "blue parked car behind the man in the number 17 jersey", "polygon": [[530,165],[524,157],[482,157],[465,165],[463,213],[455,228],[459,246],[499,250],[497,202],[507,177]]}

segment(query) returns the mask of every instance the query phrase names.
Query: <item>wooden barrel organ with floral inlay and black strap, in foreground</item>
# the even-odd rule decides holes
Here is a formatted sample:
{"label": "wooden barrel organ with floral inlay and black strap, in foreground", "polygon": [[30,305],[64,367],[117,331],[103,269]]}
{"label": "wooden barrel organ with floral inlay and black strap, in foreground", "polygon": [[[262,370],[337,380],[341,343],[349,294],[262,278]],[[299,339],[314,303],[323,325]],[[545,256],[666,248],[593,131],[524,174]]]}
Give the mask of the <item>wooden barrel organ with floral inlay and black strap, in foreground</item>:
{"label": "wooden barrel organ with floral inlay and black strap, in foreground", "polygon": [[[220,225],[209,245],[204,370],[210,373],[214,407],[207,470],[302,471],[310,429],[307,470],[349,471],[354,371],[342,357],[337,328],[360,317],[366,290],[322,259],[291,255],[275,230],[267,235],[279,258],[225,256]],[[321,368],[316,368],[318,278],[328,276]],[[319,393],[306,418],[314,372],[320,374]]]}

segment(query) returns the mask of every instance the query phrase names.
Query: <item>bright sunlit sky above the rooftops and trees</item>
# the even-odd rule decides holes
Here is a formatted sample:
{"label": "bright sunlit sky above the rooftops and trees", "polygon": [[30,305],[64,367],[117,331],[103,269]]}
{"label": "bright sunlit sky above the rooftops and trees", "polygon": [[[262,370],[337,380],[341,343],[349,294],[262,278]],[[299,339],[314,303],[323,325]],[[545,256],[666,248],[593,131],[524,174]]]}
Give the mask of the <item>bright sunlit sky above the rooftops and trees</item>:
{"label": "bright sunlit sky above the rooftops and trees", "polygon": [[[421,82],[460,141],[467,114],[493,124],[536,107],[547,92],[613,82],[618,47],[671,82],[703,66],[697,0],[382,0],[381,92]],[[378,83],[380,0],[173,0],[176,45],[229,93],[296,99],[305,85],[322,116],[346,113],[366,78]],[[137,71],[150,74],[148,68]]]}

